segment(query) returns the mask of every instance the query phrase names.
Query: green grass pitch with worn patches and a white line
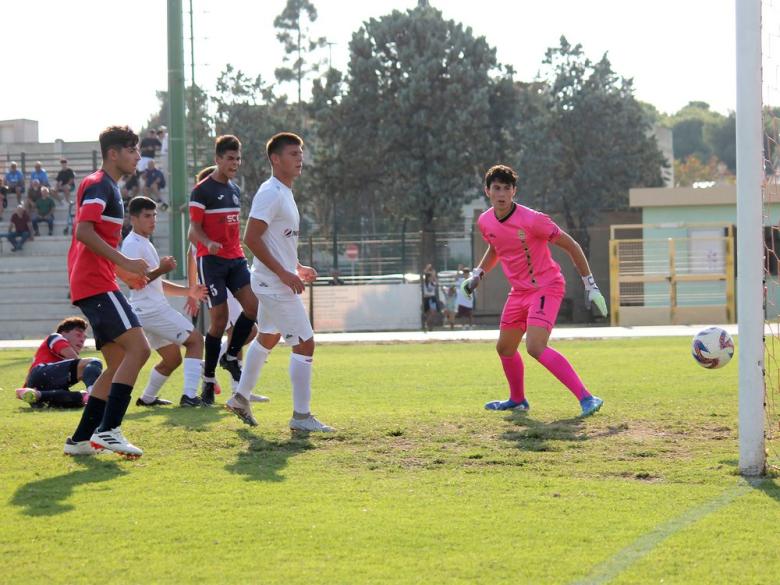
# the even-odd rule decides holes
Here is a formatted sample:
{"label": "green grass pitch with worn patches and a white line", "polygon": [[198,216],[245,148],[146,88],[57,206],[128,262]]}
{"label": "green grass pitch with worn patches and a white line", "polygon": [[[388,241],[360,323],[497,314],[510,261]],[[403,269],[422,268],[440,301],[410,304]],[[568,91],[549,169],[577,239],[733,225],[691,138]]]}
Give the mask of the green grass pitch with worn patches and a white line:
{"label": "green grass pitch with worn patches and a white line", "polygon": [[556,343],[605,399],[586,420],[526,355],[531,412],[483,410],[506,395],[491,344],[322,346],[314,412],[339,432],[310,437],[284,348],[255,429],[136,407],[150,361],[138,461],[64,457],[80,413],[16,400],[32,352],[0,352],[0,582],[776,583],[780,484],[737,474],[736,363],[688,344]]}

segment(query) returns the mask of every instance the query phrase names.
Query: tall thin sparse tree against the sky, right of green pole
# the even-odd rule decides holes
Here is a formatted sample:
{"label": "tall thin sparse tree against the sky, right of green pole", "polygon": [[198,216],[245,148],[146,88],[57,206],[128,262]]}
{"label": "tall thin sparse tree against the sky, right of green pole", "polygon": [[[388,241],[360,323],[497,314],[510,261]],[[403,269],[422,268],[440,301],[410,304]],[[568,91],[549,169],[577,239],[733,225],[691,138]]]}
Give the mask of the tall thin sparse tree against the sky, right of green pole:
{"label": "tall thin sparse tree against the sky, right of green pole", "polygon": [[[313,72],[319,71],[322,60],[306,63],[305,54],[311,54],[327,44],[325,37],[313,38],[306,26],[317,20],[317,9],[309,0],[287,0],[284,10],[274,19],[274,27],[279,32],[276,38],[284,46],[284,67],[275,74],[280,82],[295,81],[298,87],[298,108],[303,119],[303,100],[301,98],[303,80]],[[302,123],[301,123],[302,125]]]}

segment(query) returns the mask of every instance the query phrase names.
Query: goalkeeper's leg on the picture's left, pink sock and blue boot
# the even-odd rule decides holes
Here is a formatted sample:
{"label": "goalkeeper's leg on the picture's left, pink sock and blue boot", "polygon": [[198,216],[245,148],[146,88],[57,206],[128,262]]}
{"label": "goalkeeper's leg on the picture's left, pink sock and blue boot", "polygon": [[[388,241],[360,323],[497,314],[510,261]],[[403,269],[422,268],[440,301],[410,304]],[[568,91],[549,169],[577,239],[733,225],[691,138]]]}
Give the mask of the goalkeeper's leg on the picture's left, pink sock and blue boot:
{"label": "goalkeeper's leg on the picture's left, pink sock and blue boot", "polygon": [[507,384],[509,398],[492,400],[485,404],[487,410],[528,410],[525,398],[525,366],[517,351],[525,333],[525,321],[528,315],[528,303],[524,295],[510,292],[501,311],[496,352],[501,360]]}

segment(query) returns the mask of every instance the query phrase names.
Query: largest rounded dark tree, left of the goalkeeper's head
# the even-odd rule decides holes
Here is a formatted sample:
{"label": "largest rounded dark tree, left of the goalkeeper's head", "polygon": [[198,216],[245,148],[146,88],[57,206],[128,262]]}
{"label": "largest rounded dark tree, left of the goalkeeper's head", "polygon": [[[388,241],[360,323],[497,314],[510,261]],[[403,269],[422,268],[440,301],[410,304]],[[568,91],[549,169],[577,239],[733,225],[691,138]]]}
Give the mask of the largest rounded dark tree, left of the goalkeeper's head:
{"label": "largest rounded dark tree, left of the goalkeeper's head", "polygon": [[350,43],[339,150],[358,189],[396,221],[419,222],[423,262],[436,226],[460,215],[493,154],[495,50],[470,28],[421,3],[371,19]]}

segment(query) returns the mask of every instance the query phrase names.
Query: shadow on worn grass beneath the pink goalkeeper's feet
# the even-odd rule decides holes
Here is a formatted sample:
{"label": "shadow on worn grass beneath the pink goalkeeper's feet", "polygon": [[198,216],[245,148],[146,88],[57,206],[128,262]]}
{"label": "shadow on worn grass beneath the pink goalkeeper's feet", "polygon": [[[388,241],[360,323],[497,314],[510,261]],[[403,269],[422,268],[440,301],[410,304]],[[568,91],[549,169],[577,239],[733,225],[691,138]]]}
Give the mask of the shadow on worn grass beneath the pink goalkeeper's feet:
{"label": "shadow on worn grass beneath the pink goalkeeper's feet", "polygon": [[[587,441],[590,437],[583,431],[585,419],[564,418],[545,423],[532,419],[524,412],[514,412],[505,418],[519,429],[512,429],[501,435],[506,441],[516,443],[523,451],[557,451],[552,441]],[[626,425],[608,427],[597,433],[598,437],[617,435],[628,428]]]}

